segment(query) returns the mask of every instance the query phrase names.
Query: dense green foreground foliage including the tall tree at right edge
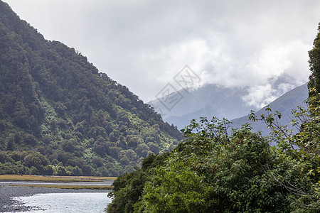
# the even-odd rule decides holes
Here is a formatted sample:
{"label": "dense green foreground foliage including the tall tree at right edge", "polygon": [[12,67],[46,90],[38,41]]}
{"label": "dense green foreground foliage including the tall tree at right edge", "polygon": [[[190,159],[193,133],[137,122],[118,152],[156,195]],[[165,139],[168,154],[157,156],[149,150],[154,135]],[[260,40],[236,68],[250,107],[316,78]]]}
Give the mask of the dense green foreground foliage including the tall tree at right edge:
{"label": "dense green foreground foliage including the tall tree at right edge", "polygon": [[142,162],[149,167],[114,181],[107,212],[319,212],[319,33],[310,51],[308,108],[293,110],[298,132],[281,126],[282,115],[270,107],[250,114],[265,121],[268,137],[250,124],[230,133],[228,120],[192,120],[174,151],[150,156]]}

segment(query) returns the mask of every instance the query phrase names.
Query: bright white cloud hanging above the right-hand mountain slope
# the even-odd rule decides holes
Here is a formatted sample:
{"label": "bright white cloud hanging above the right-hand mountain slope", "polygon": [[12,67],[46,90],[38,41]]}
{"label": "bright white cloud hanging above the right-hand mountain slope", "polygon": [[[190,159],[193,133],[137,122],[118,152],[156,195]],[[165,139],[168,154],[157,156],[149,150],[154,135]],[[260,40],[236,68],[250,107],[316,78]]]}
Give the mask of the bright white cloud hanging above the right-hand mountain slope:
{"label": "bright white cloud hanging above the right-hand mountain slope", "polygon": [[[267,45],[256,60],[247,65],[247,80],[252,80],[251,88],[245,101],[254,107],[264,107],[289,89],[306,82],[309,72],[306,72],[308,46],[295,40],[287,45]],[[299,54],[306,53],[306,54]],[[299,55],[299,57],[297,57]],[[289,77],[285,82],[278,82],[282,77]],[[272,82],[273,84],[270,84]]]}

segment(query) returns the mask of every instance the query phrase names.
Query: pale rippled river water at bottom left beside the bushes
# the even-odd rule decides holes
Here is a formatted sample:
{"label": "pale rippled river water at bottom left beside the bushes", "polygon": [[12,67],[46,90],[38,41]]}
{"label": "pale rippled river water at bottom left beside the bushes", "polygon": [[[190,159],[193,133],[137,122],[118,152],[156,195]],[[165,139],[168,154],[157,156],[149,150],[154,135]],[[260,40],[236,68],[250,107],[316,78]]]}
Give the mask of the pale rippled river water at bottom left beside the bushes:
{"label": "pale rippled river water at bottom left beside the bushes", "polygon": [[[32,212],[105,212],[112,200],[108,193],[51,193],[16,197],[26,206],[36,207]],[[44,210],[43,210],[44,209]]]}

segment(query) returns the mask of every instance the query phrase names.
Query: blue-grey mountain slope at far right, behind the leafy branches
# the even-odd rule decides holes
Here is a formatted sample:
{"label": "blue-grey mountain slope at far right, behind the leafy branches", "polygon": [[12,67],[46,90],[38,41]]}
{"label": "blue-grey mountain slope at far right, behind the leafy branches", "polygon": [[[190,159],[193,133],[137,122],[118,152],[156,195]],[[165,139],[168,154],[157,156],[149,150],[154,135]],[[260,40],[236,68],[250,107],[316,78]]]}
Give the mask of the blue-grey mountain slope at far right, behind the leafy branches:
{"label": "blue-grey mountain slope at far right, behind the leafy branches", "polygon": [[[307,84],[303,84],[300,87],[296,87],[289,92],[283,94],[281,97],[274,100],[270,103],[270,108],[272,111],[280,111],[282,118],[279,119],[279,124],[286,125],[289,124],[292,120],[292,109],[297,109],[297,106],[303,107],[306,109],[306,104],[304,101],[308,98],[308,87]],[[265,111],[266,107],[260,109],[255,114],[260,117],[261,114],[267,114]],[[242,116],[238,119],[232,120],[234,129],[239,129],[242,124],[248,123],[252,124],[252,131],[261,131],[262,135],[267,135],[270,133],[270,130],[267,129],[267,125],[263,121],[250,121],[248,116]]]}

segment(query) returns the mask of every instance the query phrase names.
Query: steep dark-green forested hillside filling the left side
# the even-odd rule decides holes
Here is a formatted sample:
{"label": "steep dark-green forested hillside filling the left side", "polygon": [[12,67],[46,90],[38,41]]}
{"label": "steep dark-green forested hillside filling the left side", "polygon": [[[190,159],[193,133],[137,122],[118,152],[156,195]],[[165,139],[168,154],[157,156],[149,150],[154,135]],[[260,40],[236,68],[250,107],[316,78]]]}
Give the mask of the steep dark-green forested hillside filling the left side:
{"label": "steep dark-green forested hillside filling the left side", "polygon": [[0,1],[0,173],[121,175],[181,133]]}

